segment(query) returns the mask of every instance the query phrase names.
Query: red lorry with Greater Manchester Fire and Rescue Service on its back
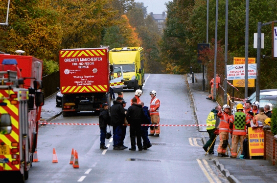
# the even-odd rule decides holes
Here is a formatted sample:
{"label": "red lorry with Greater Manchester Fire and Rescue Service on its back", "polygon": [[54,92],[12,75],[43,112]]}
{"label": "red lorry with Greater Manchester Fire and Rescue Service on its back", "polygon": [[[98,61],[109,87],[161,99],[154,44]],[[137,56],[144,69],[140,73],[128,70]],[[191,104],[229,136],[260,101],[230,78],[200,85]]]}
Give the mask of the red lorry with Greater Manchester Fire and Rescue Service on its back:
{"label": "red lorry with Greater Manchester Fire and Rescue Service on its back", "polygon": [[123,91],[122,68],[110,66],[108,54],[108,47],[60,50],[63,116],[80,111],[97,114],[102,103],[110,105],[110,86],[114,92]]}

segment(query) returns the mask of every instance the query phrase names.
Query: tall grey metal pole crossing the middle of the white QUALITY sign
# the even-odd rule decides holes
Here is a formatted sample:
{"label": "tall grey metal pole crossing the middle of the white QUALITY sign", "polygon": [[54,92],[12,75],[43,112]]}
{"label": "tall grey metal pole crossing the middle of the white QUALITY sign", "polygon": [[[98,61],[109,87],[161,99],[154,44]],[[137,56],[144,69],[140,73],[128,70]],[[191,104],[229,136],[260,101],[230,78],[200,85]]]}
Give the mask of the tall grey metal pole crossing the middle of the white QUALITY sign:
{"label": "tall grey metal pole crossing the middle of the white QUALITY sign", "polygon": [[245,82],[244,98],[248,98],[248,43],[249,43],[249,0],[246,0],[245,6]]}

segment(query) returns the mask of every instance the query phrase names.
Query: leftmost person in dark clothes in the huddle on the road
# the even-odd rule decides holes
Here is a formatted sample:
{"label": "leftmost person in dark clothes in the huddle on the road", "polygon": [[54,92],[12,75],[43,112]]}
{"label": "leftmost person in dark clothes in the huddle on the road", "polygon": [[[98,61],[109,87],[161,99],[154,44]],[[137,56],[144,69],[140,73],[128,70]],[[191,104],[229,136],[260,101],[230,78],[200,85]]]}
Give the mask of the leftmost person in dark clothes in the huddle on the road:
{"label": "leftmost person in dark clothes in the huddle on the road", "polygon": [[111,117],[108,112],[109,105],[107,103],[102,104],[102,108],[99,114],[99,127],[100,127],[100,149],[108,149],[105,146],[105,139],[107,134],[107,124],[111,124]]}

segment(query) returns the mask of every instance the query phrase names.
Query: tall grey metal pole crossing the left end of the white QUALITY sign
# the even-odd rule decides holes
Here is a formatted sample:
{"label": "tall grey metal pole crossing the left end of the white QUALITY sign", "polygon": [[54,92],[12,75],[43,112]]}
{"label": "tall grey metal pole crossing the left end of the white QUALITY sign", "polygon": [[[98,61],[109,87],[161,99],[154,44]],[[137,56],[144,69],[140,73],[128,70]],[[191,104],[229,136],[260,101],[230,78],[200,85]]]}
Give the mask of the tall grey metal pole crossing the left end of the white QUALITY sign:
{"label": "tall grey metal pole crossing the left end of the white QUALITY sign", "polygon": [[228,4],[225,7],[225,72],[224,72],[224,104],[227,103],[227,61],[228,61]]}

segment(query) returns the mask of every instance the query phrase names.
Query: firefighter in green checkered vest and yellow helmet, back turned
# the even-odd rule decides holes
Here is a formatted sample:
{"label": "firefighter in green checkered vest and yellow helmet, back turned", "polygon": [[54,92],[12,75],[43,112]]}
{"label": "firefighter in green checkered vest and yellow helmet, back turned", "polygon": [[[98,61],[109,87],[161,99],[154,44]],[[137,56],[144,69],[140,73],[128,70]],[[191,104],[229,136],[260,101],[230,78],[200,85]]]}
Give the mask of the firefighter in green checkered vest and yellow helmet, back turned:
{"label": "firefighter in green checkered vest and yellow helmet, back turned", "polygon": [[236,158],[237,144],[240,142],[240,149],[242,152],[243,140],[246,138],[246,127],[250,127],[250,118],[243,113],[243,105],[241,103],[236,106],[237,112],[234,114],[234,121],[230,122],[230,130],[232,130],[232,148],[231,158]]}

